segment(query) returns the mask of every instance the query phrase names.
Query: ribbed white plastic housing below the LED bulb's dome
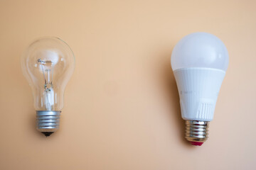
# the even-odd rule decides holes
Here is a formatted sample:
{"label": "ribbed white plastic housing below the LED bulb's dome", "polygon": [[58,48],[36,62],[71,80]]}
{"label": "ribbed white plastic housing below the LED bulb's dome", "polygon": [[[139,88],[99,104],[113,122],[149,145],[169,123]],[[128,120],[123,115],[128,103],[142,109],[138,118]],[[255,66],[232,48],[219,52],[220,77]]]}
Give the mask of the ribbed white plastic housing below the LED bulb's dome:
{"label": "ribbed white plastic housing below the LED bulb's dome", "polygon": [[213,120],[215,104],[225,72],[210,68],[176,69],[181,115],[184,120]]}

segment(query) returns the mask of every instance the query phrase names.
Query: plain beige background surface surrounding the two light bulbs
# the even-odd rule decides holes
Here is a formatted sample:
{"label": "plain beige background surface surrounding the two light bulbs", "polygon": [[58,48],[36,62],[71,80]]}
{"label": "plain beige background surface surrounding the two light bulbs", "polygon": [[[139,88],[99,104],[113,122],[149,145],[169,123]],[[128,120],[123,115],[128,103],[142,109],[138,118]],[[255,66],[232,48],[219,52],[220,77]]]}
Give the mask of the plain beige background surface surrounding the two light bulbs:
{"label": "plain beige background surface surrounding the two light bulbs", "polygon": [[[256,169],[256,1],[0,1],[0,169]],[[171,50],[217,35],[230,65],[210,138],[183,138]],[[20,57],[58,36],[76,56],[61,128],[35,128]]]}

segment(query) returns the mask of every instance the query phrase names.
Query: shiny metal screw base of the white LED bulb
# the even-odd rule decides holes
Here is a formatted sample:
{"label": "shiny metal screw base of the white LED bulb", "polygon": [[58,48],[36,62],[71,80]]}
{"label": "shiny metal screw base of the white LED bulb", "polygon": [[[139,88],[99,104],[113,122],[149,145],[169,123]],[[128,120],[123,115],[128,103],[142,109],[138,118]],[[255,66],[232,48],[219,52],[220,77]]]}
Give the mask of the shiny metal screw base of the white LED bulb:
{"label": "shiny metal screw base of the white LED bulb", "polygon": [[209,122],[186,120],[185,138],[190,142],[206,142]]}

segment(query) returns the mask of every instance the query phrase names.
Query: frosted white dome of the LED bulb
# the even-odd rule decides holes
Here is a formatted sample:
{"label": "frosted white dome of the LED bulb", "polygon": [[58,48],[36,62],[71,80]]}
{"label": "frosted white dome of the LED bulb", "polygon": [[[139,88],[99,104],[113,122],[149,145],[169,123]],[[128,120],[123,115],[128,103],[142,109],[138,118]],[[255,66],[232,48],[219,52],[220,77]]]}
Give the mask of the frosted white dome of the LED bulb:
{"label": "frosted white dome of the LED bulb", "polygon": [[210,33],[191,33],[175,45],[171,54],[173,70],[191,67],[228,69],[228,50]]}

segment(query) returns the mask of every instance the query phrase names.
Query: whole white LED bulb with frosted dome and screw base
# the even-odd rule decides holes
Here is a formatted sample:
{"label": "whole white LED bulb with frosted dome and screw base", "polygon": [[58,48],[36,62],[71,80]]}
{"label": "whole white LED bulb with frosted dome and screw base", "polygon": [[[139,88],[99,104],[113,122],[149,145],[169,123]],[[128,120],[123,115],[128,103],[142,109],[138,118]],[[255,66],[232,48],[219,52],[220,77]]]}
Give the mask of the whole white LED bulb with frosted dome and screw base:
{"label": "whole white LED bulb with frosted dome and screw base", "polygon": [[181,115],[186,120],[186,140],[201,146],[208,138],[220,86],[228,68],[228,50],[209,33],[191,33],[171,54],[178,86]]}

